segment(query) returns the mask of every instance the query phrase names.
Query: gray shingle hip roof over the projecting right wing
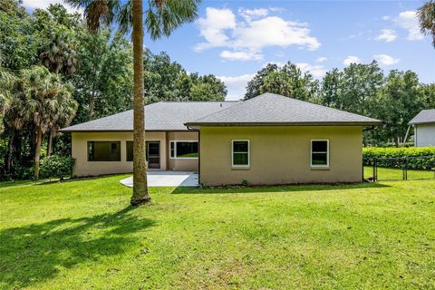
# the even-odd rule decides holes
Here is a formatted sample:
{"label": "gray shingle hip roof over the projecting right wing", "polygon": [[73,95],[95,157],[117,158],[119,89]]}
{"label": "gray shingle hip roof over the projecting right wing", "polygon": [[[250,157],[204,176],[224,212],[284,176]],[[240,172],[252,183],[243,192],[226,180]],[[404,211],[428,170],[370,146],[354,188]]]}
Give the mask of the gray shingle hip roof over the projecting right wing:
{"label": "gray shingle hip roof over the projecting right wing", "polygon": [[347,111],[340,111],[298,101],[274,93],[264,93],[246,102],[238,102],[188,126],[249,126],[249,125],[379,125],[382,121]]}

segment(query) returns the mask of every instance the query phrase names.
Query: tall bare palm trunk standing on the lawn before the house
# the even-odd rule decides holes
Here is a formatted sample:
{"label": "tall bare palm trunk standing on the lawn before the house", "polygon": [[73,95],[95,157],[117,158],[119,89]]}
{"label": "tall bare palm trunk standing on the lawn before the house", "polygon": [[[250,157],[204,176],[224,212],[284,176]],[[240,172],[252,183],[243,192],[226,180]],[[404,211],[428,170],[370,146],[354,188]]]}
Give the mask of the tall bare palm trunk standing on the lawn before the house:
{"label": "tall bare palm trunk standing on the lawn before the house", "polygon": [[143,83],[142,0],[133,0],[133,195],[131,206],[150,202],[145,161],[145,101]]}

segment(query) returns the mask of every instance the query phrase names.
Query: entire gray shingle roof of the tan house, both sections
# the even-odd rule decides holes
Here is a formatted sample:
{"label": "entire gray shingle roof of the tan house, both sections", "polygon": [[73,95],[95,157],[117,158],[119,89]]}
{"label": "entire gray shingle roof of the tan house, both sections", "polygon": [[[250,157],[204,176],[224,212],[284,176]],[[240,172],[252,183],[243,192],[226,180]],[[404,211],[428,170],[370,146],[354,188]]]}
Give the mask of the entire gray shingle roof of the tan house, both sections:
{"label": "entire gray shingle roof of the tan house, both sections", "polygon": [[[187,131],[187,126],[379,125],[382,121],[264,93],[245,102],[156,102],[145,106],[145,130]],[[133,111],[61,131],[133,131]]]}

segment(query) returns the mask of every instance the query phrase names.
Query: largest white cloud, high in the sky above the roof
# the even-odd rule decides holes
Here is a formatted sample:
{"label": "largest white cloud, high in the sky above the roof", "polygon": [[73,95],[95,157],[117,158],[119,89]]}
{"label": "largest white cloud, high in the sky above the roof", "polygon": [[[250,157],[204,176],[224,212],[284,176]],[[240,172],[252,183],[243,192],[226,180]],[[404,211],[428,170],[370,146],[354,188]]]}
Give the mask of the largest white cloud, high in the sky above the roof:
{"label": "largest white cloud, high in the sky above the roof", "polygon": [[[316,50],[320,43],[310,34],[308,24],[286,21],[281,17],[268,15],[270,9],[239,9],[239,14],[245,21],[238,20],[236,15],[227,8],[208,7],[206,16],[197,22],[200,34],[206,42],[198,43],[195,50],[201,51],[214,47],[227,48],[221,56],[238,55],[246,60],[257,60],[258,55],[266,47],[287,47],[296,45],[307,50]],[[256,57],[242,57],[249,52]]]}

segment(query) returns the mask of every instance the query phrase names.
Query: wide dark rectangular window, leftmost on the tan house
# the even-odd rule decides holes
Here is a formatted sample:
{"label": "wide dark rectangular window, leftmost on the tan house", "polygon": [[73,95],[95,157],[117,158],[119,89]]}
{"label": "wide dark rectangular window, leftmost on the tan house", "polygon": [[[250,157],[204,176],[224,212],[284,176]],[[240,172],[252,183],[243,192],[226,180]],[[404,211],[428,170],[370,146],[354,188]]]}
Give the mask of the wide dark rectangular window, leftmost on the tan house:
{"label": "wide dark rectangular window, leftmost on the tan house", "polygon": [[88,161],[121,161],[121,141],[88,141]]}

